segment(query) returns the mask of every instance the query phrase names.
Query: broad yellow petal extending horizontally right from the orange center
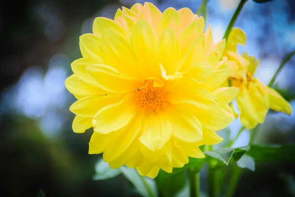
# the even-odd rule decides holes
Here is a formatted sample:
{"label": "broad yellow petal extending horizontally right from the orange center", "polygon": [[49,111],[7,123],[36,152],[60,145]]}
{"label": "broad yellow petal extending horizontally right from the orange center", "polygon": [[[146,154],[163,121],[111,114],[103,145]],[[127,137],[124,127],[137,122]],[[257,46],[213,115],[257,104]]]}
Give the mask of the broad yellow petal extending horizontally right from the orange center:
{"label": "broad yellow petal extending horizontally right from the orange center", "polygon": [[198,88],[196,82],[190,80],[178,84],[167,95],[171,103],[189,103],[204,109],[212,109],[218,106],[215,95],[206,89]]}

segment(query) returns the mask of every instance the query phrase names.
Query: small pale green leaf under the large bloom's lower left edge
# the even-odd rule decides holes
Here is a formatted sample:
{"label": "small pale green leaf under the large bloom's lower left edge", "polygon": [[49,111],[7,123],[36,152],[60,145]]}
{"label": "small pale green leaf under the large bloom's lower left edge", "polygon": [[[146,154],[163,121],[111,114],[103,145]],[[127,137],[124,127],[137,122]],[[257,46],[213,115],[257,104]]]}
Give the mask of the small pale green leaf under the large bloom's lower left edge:
{"label": "small pale green leaf under the large bloom's lower left edge", "polygon": [[93,180],[105,180],[116,177],[121,173],[120,169],[111,169],[110,165],[105,163],[103,159],[95,164],[95,172]]}

